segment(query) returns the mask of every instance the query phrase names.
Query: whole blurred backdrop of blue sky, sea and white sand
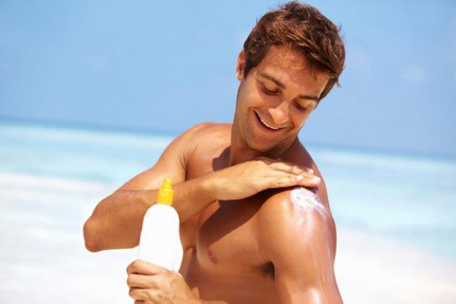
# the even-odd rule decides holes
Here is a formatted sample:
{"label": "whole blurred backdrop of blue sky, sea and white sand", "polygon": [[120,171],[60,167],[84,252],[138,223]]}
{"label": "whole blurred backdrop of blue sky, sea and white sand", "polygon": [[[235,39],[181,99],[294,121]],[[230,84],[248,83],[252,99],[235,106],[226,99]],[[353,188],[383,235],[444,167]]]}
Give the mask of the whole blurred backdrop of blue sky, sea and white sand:
{"label": "whole blurred backdrop of blue sky, sea and white sand", "polygon": [[[327,180],[341,294],[455,303],[456,3],[307,3],[347,51],[300,134]],[[128,303],[136,252],[87,253],[81,227],[181,131],[231,122],[237,54],[277,4],[0,1],[2,303]]]}

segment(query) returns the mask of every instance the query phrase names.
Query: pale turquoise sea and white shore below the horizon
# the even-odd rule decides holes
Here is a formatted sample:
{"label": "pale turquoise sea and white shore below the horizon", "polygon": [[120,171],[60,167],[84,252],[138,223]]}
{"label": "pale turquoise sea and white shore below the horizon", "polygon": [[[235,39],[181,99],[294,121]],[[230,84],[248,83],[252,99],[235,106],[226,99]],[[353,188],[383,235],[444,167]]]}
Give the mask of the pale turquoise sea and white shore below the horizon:
{"label": "pale turquoise sea and white shore below the horizon", "polygon": [[[88,253],[82,225],[172,139],[0,122],[1,303],[132,303],[136,249]],[[327,183],[345,303],[456,303],[456,160],[306,147]]]}

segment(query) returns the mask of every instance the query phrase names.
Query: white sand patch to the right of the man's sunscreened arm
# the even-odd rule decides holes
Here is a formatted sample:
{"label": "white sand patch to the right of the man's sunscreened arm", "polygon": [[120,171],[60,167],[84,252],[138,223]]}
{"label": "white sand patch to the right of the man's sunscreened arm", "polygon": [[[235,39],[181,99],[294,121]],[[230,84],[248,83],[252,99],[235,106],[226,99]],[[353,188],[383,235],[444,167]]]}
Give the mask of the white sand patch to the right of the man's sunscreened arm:
{"label": "white sand patch to the right of the man's sunscreened arm", "polygon": [[336,278],[344,303],[456,303],[455,273],[454,261],[338,229]]}

